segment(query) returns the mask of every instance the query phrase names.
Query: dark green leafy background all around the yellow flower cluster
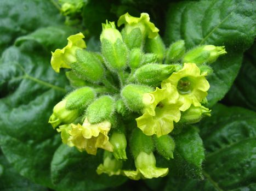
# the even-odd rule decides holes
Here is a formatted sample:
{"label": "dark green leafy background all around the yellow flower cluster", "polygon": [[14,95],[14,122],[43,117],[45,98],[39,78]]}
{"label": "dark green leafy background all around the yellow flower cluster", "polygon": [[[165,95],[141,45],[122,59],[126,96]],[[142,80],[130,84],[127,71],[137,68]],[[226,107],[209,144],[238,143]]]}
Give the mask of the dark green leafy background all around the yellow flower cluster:
{"label": "dark green leafy background all around the yellow flower cluster", "polygon": [[[0,190],[256,189],[254,1],[88,1],[77,26],[65,26],[53,2],[0,1]],[[78,31],[87,34],[88,50],[99,50],[101,22],[126,11],[149,13],[167,46],[183,39],[187,50],[213,44],[228,52],[208,76],[212,117],[172,134],[174,159],[157,156],[167,177],[136,182],[97,175],[102,153],[62,145],[48,124],[70,89],[50,67],[50,51]]]}

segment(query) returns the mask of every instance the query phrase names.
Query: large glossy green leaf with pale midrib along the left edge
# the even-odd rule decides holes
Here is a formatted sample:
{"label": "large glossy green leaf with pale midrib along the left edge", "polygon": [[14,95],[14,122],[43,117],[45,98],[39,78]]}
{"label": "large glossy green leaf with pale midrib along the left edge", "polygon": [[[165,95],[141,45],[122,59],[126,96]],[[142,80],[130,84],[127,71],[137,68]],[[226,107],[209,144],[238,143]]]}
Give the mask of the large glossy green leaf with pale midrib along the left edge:
{"label": "large glossy green leaf with pale midrib along the left edge", "polygon": [[14,168],[32,181],[52,187],[50,162],[60,144],[48,124],[64,96],[65,75],[50,67],[39,46],[10,47],[0,61],[0,145]]}

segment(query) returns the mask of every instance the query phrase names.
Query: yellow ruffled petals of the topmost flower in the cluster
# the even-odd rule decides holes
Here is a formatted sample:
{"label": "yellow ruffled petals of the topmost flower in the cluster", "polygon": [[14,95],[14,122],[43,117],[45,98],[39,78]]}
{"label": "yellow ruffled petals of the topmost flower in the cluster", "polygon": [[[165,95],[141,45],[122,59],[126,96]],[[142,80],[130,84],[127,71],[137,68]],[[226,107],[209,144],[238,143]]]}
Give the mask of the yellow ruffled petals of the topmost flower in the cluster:
{"label": "yellow ruffled petals of the topmost flower in the cluster", "polygon": [[118,27],[121,25],[126,25],[127,33],[132,31],[134,28],[139,27],[141,33],[147,35],[149,38],[155,38],[158,34],[159,29],[150,22],[149,14],[141,13],[140,17],[134,17],[126,13],[118,19]]}

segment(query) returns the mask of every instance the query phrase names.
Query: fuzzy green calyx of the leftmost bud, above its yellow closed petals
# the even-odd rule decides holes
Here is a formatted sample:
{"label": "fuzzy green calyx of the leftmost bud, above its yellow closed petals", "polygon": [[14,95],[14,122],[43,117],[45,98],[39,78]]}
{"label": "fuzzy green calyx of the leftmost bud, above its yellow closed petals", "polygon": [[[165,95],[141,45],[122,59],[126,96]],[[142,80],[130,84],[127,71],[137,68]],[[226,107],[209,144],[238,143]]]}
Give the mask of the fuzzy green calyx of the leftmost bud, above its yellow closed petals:
{"label": "fuzzy green calyx of the leftmost bud, above its yellow closed petals", "polygon": [[90,87],[82,87],[69,93],[66,96],[66,109],[83,109],[86,108],[96,97],[96,93]]}

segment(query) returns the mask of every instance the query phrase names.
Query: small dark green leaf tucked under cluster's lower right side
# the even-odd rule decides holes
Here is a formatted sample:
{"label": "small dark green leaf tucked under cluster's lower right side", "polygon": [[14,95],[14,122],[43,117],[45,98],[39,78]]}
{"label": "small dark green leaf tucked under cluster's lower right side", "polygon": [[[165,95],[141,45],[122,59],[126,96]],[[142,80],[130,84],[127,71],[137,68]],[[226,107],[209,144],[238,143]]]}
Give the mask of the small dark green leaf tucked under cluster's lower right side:
{"label": "small dark green leaf tucked under cluster's lower right side", "polygon": [[201,178],[204,148],[198,130],[189,126],[182,133],[174,136],[174,140],[174,159],[177,169],[182,174],[185,172],[188,177]]}

